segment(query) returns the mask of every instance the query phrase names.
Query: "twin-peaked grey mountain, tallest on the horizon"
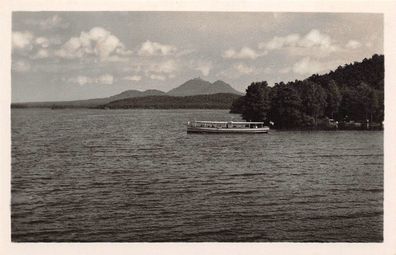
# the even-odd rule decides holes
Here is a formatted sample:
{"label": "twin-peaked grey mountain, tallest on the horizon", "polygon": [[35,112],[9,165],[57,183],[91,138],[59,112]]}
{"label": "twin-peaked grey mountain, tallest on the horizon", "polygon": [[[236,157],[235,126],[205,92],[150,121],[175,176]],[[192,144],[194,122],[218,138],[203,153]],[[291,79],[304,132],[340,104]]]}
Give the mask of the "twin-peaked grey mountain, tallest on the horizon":
{"label": "twin-peaked grey mountain, tallest on the horizon", "polygon": [[201,78],[195,78],[186,81],[177,88],[170,90],[167,95],[169,96],[194,96],[194,95],[210,95],[217,93],[231,93],[242,95],[241,92],[233,89],[229,84],[224,81],[216,81],[213,84]]}

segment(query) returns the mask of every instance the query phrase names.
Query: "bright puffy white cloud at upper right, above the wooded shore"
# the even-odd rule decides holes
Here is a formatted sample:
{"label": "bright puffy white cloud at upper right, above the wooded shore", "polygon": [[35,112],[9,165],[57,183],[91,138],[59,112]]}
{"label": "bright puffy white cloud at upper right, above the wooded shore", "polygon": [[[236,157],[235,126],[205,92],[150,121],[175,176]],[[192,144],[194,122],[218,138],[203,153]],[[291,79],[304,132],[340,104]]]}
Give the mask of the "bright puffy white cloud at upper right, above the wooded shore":
{"label": "bright puffy white cloud at upper right, above the wooded shore", "polygon": [[275,36],[268,42],[260,43],[258,47],[268,51],[286,49],[292,55],[316,57],[328,56],[340,49],[329,35],[317,29],[312,29],[304,36],[296,33],[283,37]]}

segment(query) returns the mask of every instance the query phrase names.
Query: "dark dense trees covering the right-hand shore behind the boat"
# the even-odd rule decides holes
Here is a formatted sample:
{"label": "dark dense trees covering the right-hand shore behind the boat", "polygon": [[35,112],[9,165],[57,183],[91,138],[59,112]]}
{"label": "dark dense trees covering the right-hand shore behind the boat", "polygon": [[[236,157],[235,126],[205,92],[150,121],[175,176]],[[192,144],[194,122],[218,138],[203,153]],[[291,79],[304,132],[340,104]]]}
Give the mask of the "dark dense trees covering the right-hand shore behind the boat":
{"label": "dark dense trees covering the right-hand shore behind the boat", "polygon": [[247,121],[274,123],[279,129],[319,128],[339,122],[381,123],[384,120],[384,56],[339,66],[305,80],[253,82],[245,96],[236,99],[231,113]]}

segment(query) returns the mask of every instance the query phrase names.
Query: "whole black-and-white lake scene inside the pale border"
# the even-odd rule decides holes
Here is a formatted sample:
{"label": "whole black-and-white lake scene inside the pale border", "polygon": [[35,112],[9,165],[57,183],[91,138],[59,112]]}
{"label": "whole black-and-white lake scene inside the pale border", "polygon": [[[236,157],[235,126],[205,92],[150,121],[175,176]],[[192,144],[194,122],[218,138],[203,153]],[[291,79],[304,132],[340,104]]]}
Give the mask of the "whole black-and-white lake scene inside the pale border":
{"label": "whole black-and-white lake scene inside the pale border", "polygon": [[384,240],[384,15],[14,11],[12,242]]}

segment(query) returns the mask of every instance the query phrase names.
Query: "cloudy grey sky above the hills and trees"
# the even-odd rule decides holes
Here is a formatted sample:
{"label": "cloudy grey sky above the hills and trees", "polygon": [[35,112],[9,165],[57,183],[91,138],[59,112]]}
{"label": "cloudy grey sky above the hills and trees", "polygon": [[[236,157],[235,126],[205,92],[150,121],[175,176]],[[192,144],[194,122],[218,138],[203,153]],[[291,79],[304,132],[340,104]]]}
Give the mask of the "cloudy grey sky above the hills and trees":
{"label": "cloudy grey sky above the hills and trees", "polygon": [[241,92],[383,54],[383,15],[13,12],[12,102],[169,91],[200,77]]}

